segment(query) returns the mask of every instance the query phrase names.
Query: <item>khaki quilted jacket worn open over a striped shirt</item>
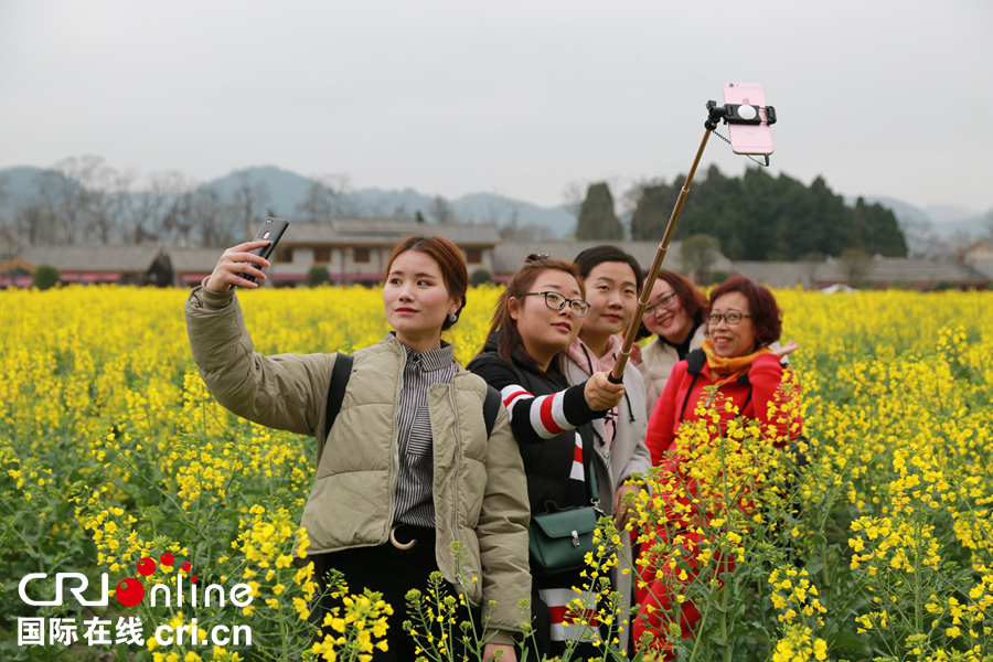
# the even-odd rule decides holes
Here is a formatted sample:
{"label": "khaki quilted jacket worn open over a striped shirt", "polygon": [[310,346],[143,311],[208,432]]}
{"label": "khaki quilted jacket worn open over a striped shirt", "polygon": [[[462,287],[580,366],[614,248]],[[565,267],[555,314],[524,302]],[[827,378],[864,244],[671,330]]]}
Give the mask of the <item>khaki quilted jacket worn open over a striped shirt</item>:
{"label": "khaki quilted jacket worn open over a striped shirt", "polygon": [[[399,341],[354,353],[341,413],[328,434],[335,354],[255,352],[233,292],[199,286],[186,299],[185,316],[193,359],[221,405],[260,425],[317,438],[317,473],[302,521],[311,541],[308,552],[386,543],[399,466],[396,402],[406,361]],[[492,641],[501,643],[530,620],[519,606],[531,597],[530,509],[524,466],[503,407],[487,437],[485,394],[485,382],[462,367],[451,384],[435,384],[428,392],[435,556],[445,578],[461,586],[471,602],[495,602],[489,628],[500,631]],[[463,551],[461,563],[452,543]]]}

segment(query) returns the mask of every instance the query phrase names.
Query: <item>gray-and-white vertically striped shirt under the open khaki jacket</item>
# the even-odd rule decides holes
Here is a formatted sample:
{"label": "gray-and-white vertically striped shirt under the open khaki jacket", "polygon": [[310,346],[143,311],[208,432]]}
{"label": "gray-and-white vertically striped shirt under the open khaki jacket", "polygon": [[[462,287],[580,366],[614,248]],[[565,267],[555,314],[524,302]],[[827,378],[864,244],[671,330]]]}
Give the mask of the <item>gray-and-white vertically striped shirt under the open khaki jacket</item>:
{"label": "gray-and-white vertically striped shirt under the open khaki jacket", "polygon": [[[396,333],[391,331],[388,337],[395,338]],[[452,346],[444,340],[439,350],[415,352],[404,345],[404,351],[407,359],[396,407],[399,474],[393,520],[397,524],[434,527],[435,457],[428,388],[434,384],[451,384],[459,366]]]}

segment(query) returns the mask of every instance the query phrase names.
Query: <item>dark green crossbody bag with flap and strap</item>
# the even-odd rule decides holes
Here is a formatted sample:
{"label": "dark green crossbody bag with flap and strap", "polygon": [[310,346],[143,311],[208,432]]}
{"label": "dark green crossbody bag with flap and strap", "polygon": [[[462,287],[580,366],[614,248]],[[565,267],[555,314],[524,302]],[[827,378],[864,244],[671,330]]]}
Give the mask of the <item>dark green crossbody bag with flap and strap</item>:
{"label": "dark green crossbody bag with flap and strap", "polygon": [[596,554],[597,545],[592,538],[597,520],[606,513],[600,510],[595,468],[590,467],[589,476],[592,505],[531,515],[527,547],[533,573],[552,575],[578,570],[586,566],[587,552]]}

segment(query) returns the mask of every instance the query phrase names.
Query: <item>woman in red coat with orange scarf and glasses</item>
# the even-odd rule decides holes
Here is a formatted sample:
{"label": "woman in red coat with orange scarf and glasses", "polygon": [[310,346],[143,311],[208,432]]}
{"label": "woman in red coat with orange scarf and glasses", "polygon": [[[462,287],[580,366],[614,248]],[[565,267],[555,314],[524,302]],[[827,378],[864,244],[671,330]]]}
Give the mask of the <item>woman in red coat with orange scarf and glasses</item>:
{"label": "woman in red coat with orange scarf and glasses", "polygon": [[[740,416],[758,421],[762,430],[770,430],[769,426],[773,426],[777,438],[796,439],[800,435],[800,419],[796,415],[787,418],[778,410],[771,415],[769,413],[770,403],[776,401],[777,409],[782,404],[779,394],[783,367],[780,362],[798,349],[792,341],[775,351],[769,349],[779,340],[782,330],[782,311],[772,292],[748,278],[732,278],[711,292],[704,320],[707,339],[702,349],[690,352],[672,369],[665,389],[652,410],[645,437],[652,465],[683,477],[691,492],[695,492],[696,487],[687,477],[688,467],[681,466],[680,456],[675,452],[676,434],[684,421],[700,418],[696,408],[701,398],[705,397],[706,387],[716,386],[723,399],[737,409],[737,414],[727,412],[722,403],[718,410],[725,423]],[[786,440],[777,441],[777,446],[784,444]],[[676,499],[672,496],[668,501],[675,505]],[[685,498],[683,501],[686,501]],[[679,534],[691,542],[698,542],[701,536],[690,524],[686,522],[684,531]],[[672,532],[665,534],[661,528],[658,533],[663,538],[661,542],[672,535]],[[730,569],[734,563],[728,560],[722,566]],[[638,591],[641,618],[636,619],[633,627],[636,641],[645,631],[659,636],[664,629],[661,619],[670,610],[672,594],[666,578],[656,578],[651,565],[641,574],[645,584]],[[682,604],[680,624],[684,638],[692,637],[700,618],[700,611],[691,601]],[[659,648],[669,650],[666,645]]]}

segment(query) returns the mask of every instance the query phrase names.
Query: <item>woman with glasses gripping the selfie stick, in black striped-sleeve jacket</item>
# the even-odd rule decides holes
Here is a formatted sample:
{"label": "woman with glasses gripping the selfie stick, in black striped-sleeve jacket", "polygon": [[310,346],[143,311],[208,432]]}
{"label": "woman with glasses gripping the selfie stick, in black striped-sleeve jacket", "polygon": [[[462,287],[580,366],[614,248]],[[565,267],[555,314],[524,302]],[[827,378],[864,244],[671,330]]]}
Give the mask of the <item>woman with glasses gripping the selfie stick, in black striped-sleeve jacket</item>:
{"label": "woman with glasses gripping the selfie stick, in black striped-sleeve jacket", "polygon": [[[595,372],[569,386],[563,374],[565,350],[589,311],[583,278],[575,265],[547,256],[530,256],[500,297],[483,350],[469,363],[503,395],[511,429],[527,478],[532,514],[590,503],[595,441],[590,423],[620,403],[622,384]],[[602,494],[602,500],[611,499]],[[589,628],[572,624],[566,606],[573,587],[589,579],[580,570],[542,575],[532,564],[532,616],[537,652],[560,655],[566,642],[588,637]],[[590,606],[590,608],[594,608]],[[584,642],[577,658],[602,650]]]}

